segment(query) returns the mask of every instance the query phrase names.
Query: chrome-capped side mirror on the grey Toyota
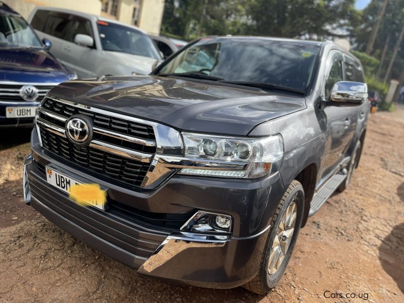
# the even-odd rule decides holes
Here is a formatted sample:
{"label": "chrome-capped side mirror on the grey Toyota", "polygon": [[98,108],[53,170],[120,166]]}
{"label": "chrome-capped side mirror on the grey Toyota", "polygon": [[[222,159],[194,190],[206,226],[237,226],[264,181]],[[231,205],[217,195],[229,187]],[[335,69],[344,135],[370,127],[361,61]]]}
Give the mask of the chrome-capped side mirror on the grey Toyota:
{"label": "chrome-capped side mirror on the grey Toyota", "polygon": [[330,101],[361,104],[368,97],[368,86],[361,82],[339,81],[331,89]]}

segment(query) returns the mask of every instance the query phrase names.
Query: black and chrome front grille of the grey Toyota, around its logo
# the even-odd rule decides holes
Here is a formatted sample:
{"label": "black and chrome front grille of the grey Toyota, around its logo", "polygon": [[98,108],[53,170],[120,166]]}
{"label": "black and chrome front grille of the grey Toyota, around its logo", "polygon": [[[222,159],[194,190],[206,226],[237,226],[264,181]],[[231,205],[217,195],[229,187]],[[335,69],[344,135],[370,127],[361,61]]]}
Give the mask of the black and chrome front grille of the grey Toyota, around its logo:
{"label": "black and chrome front grille of the grey Toyota, around its logo", "polygon": [[[93,120],[87,147],[66,138],[66,121],[82,114]],[[37,110],[36,125],[45,149],[80,167],[133,186],[140,186],[156,153],[153,124],[139,119],[46,97]]]}

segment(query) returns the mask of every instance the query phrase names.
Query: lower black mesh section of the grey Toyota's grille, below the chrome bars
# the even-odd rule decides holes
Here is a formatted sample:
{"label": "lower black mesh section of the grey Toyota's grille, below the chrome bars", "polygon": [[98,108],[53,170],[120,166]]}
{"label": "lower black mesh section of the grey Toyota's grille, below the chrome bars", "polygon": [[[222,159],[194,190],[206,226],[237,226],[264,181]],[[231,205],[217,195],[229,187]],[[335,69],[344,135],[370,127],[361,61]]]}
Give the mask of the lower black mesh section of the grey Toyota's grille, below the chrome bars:
{"label": "lower black mesh section of the grey Toyota's grille, below the chrome bars", "polygon": [[77,146],[68,139],[43,128],[40,129],[40,134],[43,147],[52,153],[80,167],[130,185],[140,186],[149,167],[149,163],[106,153],[92,147]]}

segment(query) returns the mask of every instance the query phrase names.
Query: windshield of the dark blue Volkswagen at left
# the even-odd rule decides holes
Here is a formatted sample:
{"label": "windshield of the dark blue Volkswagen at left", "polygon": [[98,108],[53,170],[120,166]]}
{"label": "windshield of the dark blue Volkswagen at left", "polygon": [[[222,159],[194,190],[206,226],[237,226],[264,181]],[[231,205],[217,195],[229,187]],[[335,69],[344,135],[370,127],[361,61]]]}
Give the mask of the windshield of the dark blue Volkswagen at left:
{"label": "windshield of the dark blue Volkswagen at left", "polygon": [[0,15],[0,47],[42,47],[33,30],[17,15]]}

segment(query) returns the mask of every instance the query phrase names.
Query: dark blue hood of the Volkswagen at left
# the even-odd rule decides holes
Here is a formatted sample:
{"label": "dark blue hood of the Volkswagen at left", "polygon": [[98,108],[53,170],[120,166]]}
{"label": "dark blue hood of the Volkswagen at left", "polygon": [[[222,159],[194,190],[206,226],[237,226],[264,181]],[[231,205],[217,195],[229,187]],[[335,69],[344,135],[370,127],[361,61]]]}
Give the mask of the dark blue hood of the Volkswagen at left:
{"label": "dark blue hood of the Volkswagen at left", "polygon": [[60,83],[66,80],[66,69],[43,49],[0,49],[0,81]]}

